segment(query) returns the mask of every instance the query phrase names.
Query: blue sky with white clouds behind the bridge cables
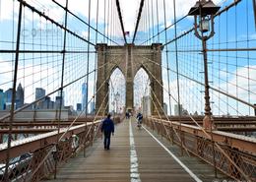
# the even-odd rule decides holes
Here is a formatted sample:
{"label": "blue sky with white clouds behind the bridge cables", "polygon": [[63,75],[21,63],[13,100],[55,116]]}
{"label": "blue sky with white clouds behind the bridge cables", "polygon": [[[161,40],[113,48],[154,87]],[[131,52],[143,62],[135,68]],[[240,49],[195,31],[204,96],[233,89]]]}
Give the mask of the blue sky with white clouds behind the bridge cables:
{"label": "blue sky with white clouds behind the bridge cables", "polygon": [[[13,3],[14,2],[14,3]],[[45,15],[54,19],[60,24],[64,22],[64,11],[62,11],[58,6],[52,3],[50,0],[43,1],[44,4],[37,0],[27,1],[36,7],[40,11],[44,12]],[[62,5],[65,4],[65,1],[58,1]],[[107,2],[107,1],[106,1]],[[109,2],[114,2],[109,0]],[[126,1],[121,0],[120,5],[122,9],[124,26],[125,30],[130,31],[130,37],[127,37],[130,41],[132,38],[133,31],[135,29],[136,16],[139,8],[139,0]],[[151,1],[149,1],[149,6],[151,6]],[[155,1],[154,1],[155,2]],[[155,31],[164,29],[164,19],[163,19],[163,6],[161,0],[159,0],[160,16],[159,16],[159,25],[157,24],[157,17],[155,16],[154,27],[151,27],[150,30],[146,29],[143,26],[143,18],[146,20],[145,16],[142,18],[142,22],[138,32],[138,38],[147,39],[149,34],[148,31]],[[215,1],[220,4],[222,8],[230,4],[231,0],[225,1]],[[177,0],[177,19],[183,17],[187,14],[191,6],[194,5],[195,1],[186,0]],[[108,5],[108,4],[106,4]],[[147,3],[146,3],[147,5]],[[145,6],[146,6],[145,5]],[[18,3],[16,0],[0,0],[0,49],[15,49],[16,42],[16,33],[17,33],[17,15],[18,15]],[[76,0],[70,1],[69,8],[83,20],[88,22],[88,0]],[[14,11],[13,11],[14,10]],[[167,17],[167,26],[173,23],[173,6],[172,1],[166,1],[166,17]],[[157,15],[157,10],[154,9],[154,14]],[[235,18],[236,11],[236,18]],[[111,11],[110,11],[111,12]],[[115,11],[113,11],[115,12]],[[116,12],[115,12],[116,13]],[[119,44],[123,44],[122,34],[119,27],[117,19],[112,18],[109,25],[104,24],[104,15],[108,15],[108,12],[104,14],[104,1],[99,0],[99,14],[98,14],[98,30],[100,32],[108,32],[111,35],[111,38],[114,39]],[[114,15],[114,13],[112,14]],[[92,2],[92,21],[91,24],[96,28],[96,1]],[[111,14],[109,13],[109,17]],[[110,18],[109,18],[110,19]],[[216,34],[214,38],[208,41],[208,47],[210,49],[218,48],[246,48],[255,47],[255,27],[254,27],[254,16],[252,1],[242,0],[236,8],[231,8],[227,13],[224,13],[221,17],[216,18],[215,20]],[[248,22],[248,23],[247,23]],[[115,28],[113,28],[115,26]],[[193,19],[186,18],[177,24],[178,34],[182,33],[185,30],[189,30],[193,26]],[[80,36],[88,39],[88,27],[72,17],[68,16],[68,29],[75,31]],[[152,35],[152,34],[151,34]],[[91,41],[96,43],[96,31],[91,30],[90,33]],[[54,37],[52,39],[51,37]],[[170,40],[174,37],[173,27],[167,30],[167,39]],[[106,40],[105,40],[106,41]],[[158,39],[155,38],[155,42]],[[227,43],[226,43],[227,41]],[[102,35],[98,34],[97,42],[104,42]],[[143,41],[136,41],[137,44],[142,43]],[[164,33],[160,34],[160,42],[165,42]],[[235,43],[236,42],[236,43]],[[110,42],[108,42],[109,44]],[[152,43],[148,42],[149,44]],[[247,44],[248,43],[248,44]],[[33,44],[33,45],[32,45]],[[48,45],[48,46],[47,46]],[[30,50],[62,50],[63,45],[63,31],[58,29],[56,26],[52,25],[49,22],[46,22],[43,18],[40,18],[35,13],[32,13],[28,8],[25,9],[23,14],[23,24],[22,24],[22,37],[21,37],[21,49],[30,49]],[[75,38],[74,36],[68,33],[67,35],[67,50],[87,50],[88,44]],[[174,50],[174,44],[171,43],[164,47],[162,54],[162,64],[166,66],[166,56],[164,51]],[[95,50],[94,46],[90,46],[91,50]],[[178,49],[179,50],[200,50],[201,44],[200,41],[196,39],[193,33],[180,38],[178,40]],[[73,80],[85,75],[87,71],[87,54],[66,54],[66,65],[65,65],[65,78],[64,84],[68,84]],[[92,71],[95,68],[95,54],[92,53],[89,56],[90,67],[89,70]],[[228,91],[228,93],[233,94],[241,99],[244,99],[250,103],[256,102],[256,88],[255,81],[248,81],[248,77],[256,78],[256,63],[255,63],[255,53],[250,51],[243,52],[209,52],[209,60],[213,60],[212,64],[209,66],[209,75],[210,79],[213,81],[212,86],[217,89],[222,89]],[[172,52],[168,53],[168,60],[170,68],[175,70],[175,55]],[[199,74],[202,71],[202,56],[196,53],[191,52],[180,52],[178,53],[178,62],[180,73],[188,77],[191,77],[197,81],[203,83],[203,75]],[[60,78],[61,78],[61,62],[62,55],[59,53],[54,54],[39,54],[39,53],[27,53],[20,54],[20,63],[19,63],[19,75],[18,78],[26,90],[26,101],[31,102],[34,99],[34,89],[36,87],[45,88],[47,92],[54,91],[60,87]],[[237,65],[236,66],[236,62]],[[227,64],[226,64],[227,63]],[[7,90],[12,87],[11,78],[13,75],[13,64],[14,64],[14,54],[11,53],[1,53],[0,54],[0,89]],[[146,78],[145,74],[141,74],[141,78]],[[238,76],[237,76],[238,75]],[[93,96],[93,88],[95,85],[94,74],[89,78],[89,99]],[[162,69],[162,79],[164,88],[167,89],[167,73],[166,70]],[[147,79],[143,79],[143,85],[146,84]],[[72,86],[65,89],[65,96],[67,96],[66,104],[75,105],[77,102],[81,102],[81,88],[82,83],[85,82],[85,79],[82,79],[79,82],[76,82]],[[6,83],[6,84],[5,84]],[[119,81],[116,81],[116,88],[119,87]],[[170,86],[171,93],[175,98],[177,98],[176,91],[176,77],[175,73],[170,73]],[[203,111],[203,94],[202,87],[197,86],[191,81],[188,81],[184,78],[180,78],[181,85],[181,97],[182,104],[190,112],[195,110],[201,112]],[[238,87],[236,87],[238,86]],[[187,89],[189,88],[189,89]],[[237,89],[238,88],[238,89]],[[249,90],[250,91],[246,91]],[[168,103],[168,93],[164,91],[164,100]],[[191,95],[191,96],[188,96]],[[221,96],[221,99],[218,98]],[[52,95],[52,98],[54,95]],[[191,98],[192,97],[192,98]],[[212,92],[212,98],[215,102],[213,104],[214,113],[221,114],[220,110],[224,113],[227,111],[231,114],[237,114],[237,105],[239,107],[239,112],[243,115],[252,114],[252,109],[249,109],[243,104],[239,104],[236,101],[226,98],[226,96],[219,95],[217,92]],[[137,98],[138,99],[138,98]],[[191,100],[194,100],[193,102]],[[224,100],[224,101],[223,101]],[[175,101],[171,100],[171,107],[173,108]],[[220,109],[220,105],[222,109]],[[235,108],[235,109],[233,109]]]}

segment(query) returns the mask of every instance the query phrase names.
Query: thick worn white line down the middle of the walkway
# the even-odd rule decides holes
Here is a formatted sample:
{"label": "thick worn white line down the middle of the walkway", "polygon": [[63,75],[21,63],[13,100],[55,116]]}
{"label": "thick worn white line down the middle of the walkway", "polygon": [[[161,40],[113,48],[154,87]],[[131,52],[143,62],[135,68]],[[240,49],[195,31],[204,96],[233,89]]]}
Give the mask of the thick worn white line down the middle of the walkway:
{"label": "thick worn white line down the middle of the walkway", "polygon": [[133,130],[131,124],[131,118],[129,119],[129,131],[130,131],[130,177],[131,182],[141,182],[140,173],[139,173],[139,164],[138,157],[135,150],[134,138],[133,138]]}

